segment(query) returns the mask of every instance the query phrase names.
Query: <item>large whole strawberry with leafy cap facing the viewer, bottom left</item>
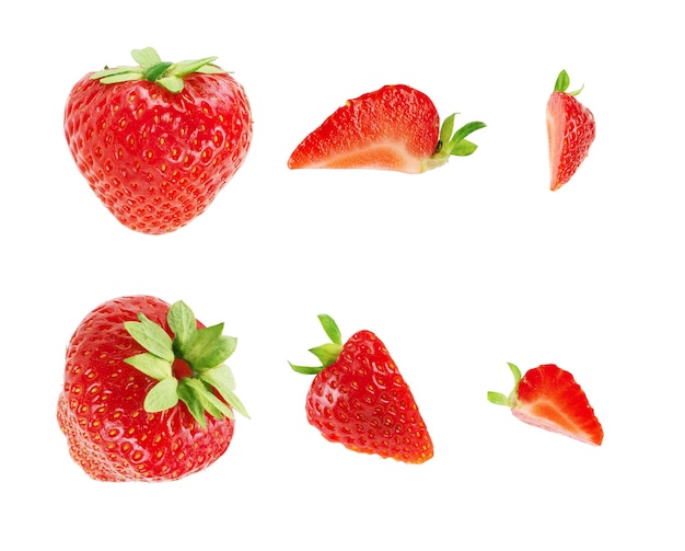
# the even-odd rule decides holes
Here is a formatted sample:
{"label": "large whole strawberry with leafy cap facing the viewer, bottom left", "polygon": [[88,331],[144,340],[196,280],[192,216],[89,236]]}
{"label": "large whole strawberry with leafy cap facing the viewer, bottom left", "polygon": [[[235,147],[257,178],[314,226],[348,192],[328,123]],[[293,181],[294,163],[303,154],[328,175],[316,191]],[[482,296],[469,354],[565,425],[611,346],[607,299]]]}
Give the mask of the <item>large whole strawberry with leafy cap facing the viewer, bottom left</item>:
{"label": "large whole strawberry with leafy cap facing the viewer, bottom left", "polygon": [[179,479],[213,463],[247,415],[224,364],[235,338],[184,302],[109,300],[77,328],[57,420],[73,460],[102,481]]}

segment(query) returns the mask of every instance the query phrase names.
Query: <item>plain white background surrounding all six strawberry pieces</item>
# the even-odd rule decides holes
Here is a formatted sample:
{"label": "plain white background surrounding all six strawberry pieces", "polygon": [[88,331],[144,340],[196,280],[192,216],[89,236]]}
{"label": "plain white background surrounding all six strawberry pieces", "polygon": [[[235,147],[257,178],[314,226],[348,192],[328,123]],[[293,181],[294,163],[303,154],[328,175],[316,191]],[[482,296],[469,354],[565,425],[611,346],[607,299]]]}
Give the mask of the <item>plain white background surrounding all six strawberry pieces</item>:
{"label": "plain white background surrounding all six strawberry pieces", "polygon": [[[8,8],[9,7],[9,8]],[[676,4],[11,2],[2,8],[3,549],[676,549],[685,492],[684,39]],[[247,160],[164,237],[120,226],[62,131],[76,81],[219,56],[252,103]],[[590,157],[548,190],[545,104],[561,69],[594,113]],[[383,84],[483,120],[473,157],[409,176],[289,171],[298,142]],[[252,420],[173,483],[90,480],[55,418],[71,333],[129,294],[185,300],[239,337]],[[304,415],[325,341],[374,331],[436,457],[325,441]],[[313,356],[312,356],[313,359]],[[486,400],[507,361],[557,363],[605,429],[595,448]],[[9,546],[9,547],[8,547]]]}

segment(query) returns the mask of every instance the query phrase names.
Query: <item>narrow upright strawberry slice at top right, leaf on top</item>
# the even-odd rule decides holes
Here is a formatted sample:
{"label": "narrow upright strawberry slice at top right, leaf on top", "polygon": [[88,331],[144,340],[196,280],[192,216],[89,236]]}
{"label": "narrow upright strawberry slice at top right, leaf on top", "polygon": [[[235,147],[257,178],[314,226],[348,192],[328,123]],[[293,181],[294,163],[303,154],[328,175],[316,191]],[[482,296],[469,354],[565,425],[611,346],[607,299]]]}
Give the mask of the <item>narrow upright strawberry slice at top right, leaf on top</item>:
{"label": "narrow upright strawberry slice at top right, leaf on top", "polygon": [[550,188],[556,191],[576,173],[594,140],[594,116],[577,99],[581,91],[567,92],[569,76],[561,71],[547,101]]}

